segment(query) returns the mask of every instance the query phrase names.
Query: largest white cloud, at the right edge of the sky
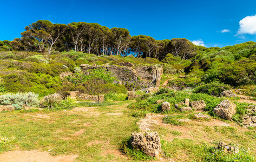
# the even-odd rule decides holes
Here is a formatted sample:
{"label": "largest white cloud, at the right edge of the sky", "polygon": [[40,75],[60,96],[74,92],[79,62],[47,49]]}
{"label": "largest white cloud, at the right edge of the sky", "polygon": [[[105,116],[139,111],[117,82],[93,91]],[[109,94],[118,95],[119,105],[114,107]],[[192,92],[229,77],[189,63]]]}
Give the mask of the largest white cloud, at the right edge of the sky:
{"label": "largest white cloud, at the right edge of the sky", "polygon": [[239,22],[239,29],[237,35],[256,35],[256,15],[254,16],[246,16]]}

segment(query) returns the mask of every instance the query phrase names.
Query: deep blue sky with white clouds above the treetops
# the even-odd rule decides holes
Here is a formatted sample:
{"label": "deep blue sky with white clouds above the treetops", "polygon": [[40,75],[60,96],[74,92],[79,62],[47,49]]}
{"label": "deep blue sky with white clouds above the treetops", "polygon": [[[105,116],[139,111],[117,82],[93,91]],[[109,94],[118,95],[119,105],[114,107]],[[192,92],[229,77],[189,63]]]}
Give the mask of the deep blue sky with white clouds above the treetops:
{"label": "deep blue sky with white clouds above the treetops", "polygon": [[256,42],[256,1],[3,1],[0,40],[21,37],[39,19],[99,23],[157,40],[187,38],[211,46]]}

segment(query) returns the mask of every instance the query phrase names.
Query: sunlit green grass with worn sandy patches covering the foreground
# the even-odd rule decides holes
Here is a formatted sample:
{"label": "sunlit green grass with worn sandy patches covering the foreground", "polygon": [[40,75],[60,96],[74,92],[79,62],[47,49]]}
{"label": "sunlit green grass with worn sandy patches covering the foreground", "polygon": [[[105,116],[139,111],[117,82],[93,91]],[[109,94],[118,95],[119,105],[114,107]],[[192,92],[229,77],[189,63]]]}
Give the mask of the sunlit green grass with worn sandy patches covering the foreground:
{"label": "sunlit green grass with worn sandy patches covering the foreground", "polygon": [[[161,95],[161,94],[160,94]],[[182,96],[182,95],[181,95]],[[129,137],[139,132],[136,124],[147,110],[127,109],[134,100],[114,103],[77,103],[72,110],[18,110],[0,113],[0,153],[11,150],[41,150],[51,155],[78,154],[75,161],[154,161],[140,150],[132,149]],[[141,101],[139,101],[141,102]],[[239,108],[241,112],[244,105]],[[108,113],[122,112],[121,116]],[[150,126],[157,131],[162,159],[175,161],[242,161],[256,154],[256,133],[219,118],[194,120],[194,112],[168,112]],[[157,117],[157,116],[156,116]],[[188,119],[179,122],[178,119]],[[221,126],[216,123],[227,123]],[[219,141],[238,146],[237,156],[214,150]],[[250,148],[250,152],[244,148]],[[125,156],[122,156],[125,153]],[[214,153],[214,154],[212,154]],[[246,153],[246,155],[245,155]],[[213,158],[213,159],[212,159]],[[216,160],[219,159],[219,160]],[[249,160],[249,161],[250,161]],[[252,161],[252,160],[251,160]]]}

